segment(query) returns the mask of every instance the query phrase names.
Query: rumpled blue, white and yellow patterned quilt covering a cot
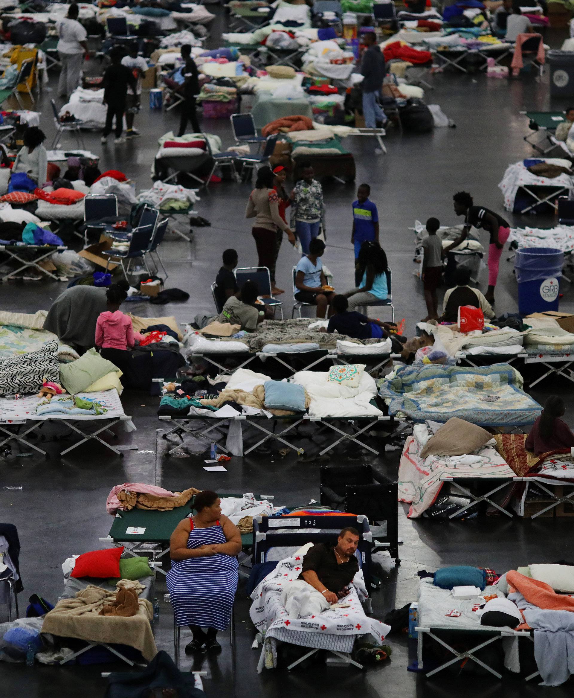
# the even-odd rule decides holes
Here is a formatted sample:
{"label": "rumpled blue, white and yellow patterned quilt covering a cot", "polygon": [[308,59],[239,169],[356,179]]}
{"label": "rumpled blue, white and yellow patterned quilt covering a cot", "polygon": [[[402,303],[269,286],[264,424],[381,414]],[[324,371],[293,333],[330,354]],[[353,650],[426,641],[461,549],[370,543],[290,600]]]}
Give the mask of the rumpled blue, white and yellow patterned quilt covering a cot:
{"label": "rumpled blue, white and yellow patterned quilt covering a cot", "polygon": [[460,417],[481,426],[522,426],[534,424],[542,410],[508,364],[401,366],[379,386],[389,414],[414,422]]}

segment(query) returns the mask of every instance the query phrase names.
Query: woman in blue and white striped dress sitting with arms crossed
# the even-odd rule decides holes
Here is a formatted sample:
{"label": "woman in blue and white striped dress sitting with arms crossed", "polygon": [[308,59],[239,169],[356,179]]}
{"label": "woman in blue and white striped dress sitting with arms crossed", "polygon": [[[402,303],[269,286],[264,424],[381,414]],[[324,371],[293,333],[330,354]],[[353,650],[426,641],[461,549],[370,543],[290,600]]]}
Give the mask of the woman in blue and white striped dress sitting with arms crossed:
{"label": "woman in blue and white striped dress sitting with arms crossed", "polygon": [[186,653],[202,651],[204,645],[208,652],[220,651],[216,635],[231,617],[241,533],[222,515],[216,492],[200,492],[194,508],[197,514],[180,521],[169,539],[167,588],[177,625],[189,625],[193,633]]}

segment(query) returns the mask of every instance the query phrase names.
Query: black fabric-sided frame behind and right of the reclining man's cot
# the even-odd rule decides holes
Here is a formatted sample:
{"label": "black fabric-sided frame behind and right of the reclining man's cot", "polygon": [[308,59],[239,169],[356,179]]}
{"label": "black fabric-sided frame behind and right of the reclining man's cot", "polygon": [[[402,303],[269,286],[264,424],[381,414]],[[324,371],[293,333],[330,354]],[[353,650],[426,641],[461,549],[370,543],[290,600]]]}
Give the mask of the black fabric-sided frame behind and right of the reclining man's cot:
{"label": "black fabric-sided frame behind and right of the reclining man's cot", "polygon": [[[371,465],[322,466],[321,504],[344,512],[361,512],[369,519],[375,547],[388,550],[400,564],[398,549],[398,483],[377,473]],[[378,530],[377,530],[378,529]]]}

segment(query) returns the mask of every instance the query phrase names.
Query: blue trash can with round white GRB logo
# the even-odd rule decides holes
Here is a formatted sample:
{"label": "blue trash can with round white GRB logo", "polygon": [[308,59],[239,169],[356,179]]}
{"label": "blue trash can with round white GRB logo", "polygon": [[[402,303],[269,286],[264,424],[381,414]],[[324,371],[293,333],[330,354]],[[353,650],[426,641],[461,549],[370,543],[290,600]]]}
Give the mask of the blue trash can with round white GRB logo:
{"label": "blue trash can with round white GRB logo", "polygon": [[514,268],[520,315],[558,310],[562,267],[564,252],[556,248],[525,247],[517,251]]}

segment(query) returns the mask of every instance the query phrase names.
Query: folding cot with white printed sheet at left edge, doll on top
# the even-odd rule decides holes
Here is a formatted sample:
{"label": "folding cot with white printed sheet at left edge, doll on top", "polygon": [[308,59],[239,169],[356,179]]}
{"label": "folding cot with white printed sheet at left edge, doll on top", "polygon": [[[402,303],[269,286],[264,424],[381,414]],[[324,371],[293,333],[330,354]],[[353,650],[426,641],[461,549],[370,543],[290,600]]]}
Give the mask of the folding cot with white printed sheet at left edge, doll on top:
{"label": "folding cot with white printed sheet at left edge, doll on top", "polygon": [[[122,422],[128,429],[130,427],[131,429],[135,429],[133,422],[131,422],[131,417],[128,417],[123,411],[121,400],[116,389],[112,388],[100,392],[78,393],[78,396],[98,401],[100,405],[107,408],[107,412],[102,415],[66,415],[63,413],[37,415],[36,406],[38,402],[40,402],[38,396],[25,395],[20,399],[6,397],[0,401],[0,433],[6,435],[0,442],[0,447],[10,440],[14,440],[27,448],[31,448],[43,454],[46,458],[49,458],[50,456],[45,450],[33,443],[29,443],[26,437],[39,429],[46,422],[57,421],[57,423],[65,424],[68,429],[82,437],[73,445],[63,450],[60,454],[61,456],[73,451],[86,441],[94,439],[120,456],[120,458],[123,458],[123,452],[98,436],[100,433],[107,432],[115,437],[116,435],[111,427],[115,424],[119,424],[119,422]],[[92,431],[84,431],[88,422],[93,422]]]}

